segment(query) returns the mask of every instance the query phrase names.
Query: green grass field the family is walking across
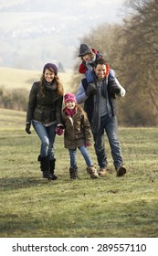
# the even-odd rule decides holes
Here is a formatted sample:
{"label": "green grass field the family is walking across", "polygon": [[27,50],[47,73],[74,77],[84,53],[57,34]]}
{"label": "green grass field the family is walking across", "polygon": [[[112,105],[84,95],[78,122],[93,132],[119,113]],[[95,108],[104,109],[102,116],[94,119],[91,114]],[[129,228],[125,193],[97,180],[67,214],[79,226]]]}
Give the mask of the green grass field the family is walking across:
{"label": "green grass field the family is walking across", "polygon": [[157,128],[120,127],[123,177],[115,174],[105,137],[112,172],[96,180],[81,155],[79,180],[69,179],[68,152],[58,136],[58,179],[47,181],[37,163],[37,135],[25,133],[25,118],[25,112],[0,110],[0,237],[158,237]]}

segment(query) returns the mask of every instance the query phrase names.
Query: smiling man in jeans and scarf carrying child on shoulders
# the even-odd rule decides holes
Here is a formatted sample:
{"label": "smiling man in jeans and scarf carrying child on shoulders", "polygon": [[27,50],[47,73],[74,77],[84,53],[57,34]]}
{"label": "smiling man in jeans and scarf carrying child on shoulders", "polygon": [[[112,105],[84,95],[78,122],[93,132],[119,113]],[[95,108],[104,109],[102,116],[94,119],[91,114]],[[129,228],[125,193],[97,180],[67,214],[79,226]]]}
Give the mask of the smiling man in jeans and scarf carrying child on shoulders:
{"label": "smiling man in jeans and scarf carrying child on shoulders", "polygon": [[108,64],[104,59],[97,59],[94,63],[94,82],[89,83],[86,79],[81,80],[79,91],[76,94],[77,102],[84,104],[88,114],[91,131],[94,138],[94,148],[100,166],[99,175],[107,175],[107,155],[104,145],[104,130],[107,133],[111,146],[113,165],[117,176],[124,176],[126,168],[121,156],[121,144],[118,139],[116,98],[115,95],[124,97],[125,90],[114,77],[110,80],[107,74]]}

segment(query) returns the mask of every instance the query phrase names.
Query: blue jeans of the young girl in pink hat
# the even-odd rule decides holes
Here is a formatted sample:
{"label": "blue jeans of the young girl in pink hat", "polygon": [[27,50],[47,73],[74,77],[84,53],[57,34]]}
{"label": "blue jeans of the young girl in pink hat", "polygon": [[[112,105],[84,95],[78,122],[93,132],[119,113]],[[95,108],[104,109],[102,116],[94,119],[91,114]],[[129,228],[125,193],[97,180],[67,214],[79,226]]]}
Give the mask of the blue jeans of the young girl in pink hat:
{"label": "blue jeans of the young girl in pink hat", "polygon": [[[88,167],[92,166],[93,163],[90,158],[87,147],[84,145],[79,146],[79,150],[80,150],[81,155],[83,155]],[[70,167],[75,169],[77,167],[77,148],[68,149],[68,151],[69,151],[69,156],[70,156]]]}

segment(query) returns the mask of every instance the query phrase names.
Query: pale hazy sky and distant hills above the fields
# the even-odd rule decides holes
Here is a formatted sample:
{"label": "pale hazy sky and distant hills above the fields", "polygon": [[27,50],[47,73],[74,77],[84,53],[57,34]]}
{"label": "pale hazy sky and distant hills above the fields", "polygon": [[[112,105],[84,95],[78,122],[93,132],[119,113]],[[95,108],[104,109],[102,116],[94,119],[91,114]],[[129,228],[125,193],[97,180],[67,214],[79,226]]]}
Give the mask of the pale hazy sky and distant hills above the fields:
{"label": "pale hazy sky and distant hills above the fields", "polygon": [[[49,38],[45,30],[51,28],[51,56],[64,61],[66,68],[72,67],[79,38],[101,24],[121,23],[125,16],[123,3],[124,0],[0,0],[0,65],[18,66],[21,59],[29,59],[29,54],[32,58],[33,53],[34,59],[41,55],[47,59],[45,46]],[[43,34],[40,36],[39,32]],[[38,69],[31,63],[31,69]]]}

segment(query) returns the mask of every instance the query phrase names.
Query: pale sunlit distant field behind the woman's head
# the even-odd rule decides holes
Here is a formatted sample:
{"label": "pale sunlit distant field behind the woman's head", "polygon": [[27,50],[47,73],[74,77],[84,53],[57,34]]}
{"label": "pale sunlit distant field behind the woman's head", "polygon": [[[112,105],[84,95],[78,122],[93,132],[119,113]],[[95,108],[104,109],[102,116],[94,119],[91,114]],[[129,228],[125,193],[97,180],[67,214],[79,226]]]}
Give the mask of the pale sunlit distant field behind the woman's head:
{"label": "pale sunlit distant field behind the woman's head", "polygon": [[[6,89],[26,88],[30,90],[32,83],[39,80],[42,70],[10,69],[0,67],[0,87]],[[58,73],[62,81],[64,91],[68,92],[71,88],[72,73]]]}

